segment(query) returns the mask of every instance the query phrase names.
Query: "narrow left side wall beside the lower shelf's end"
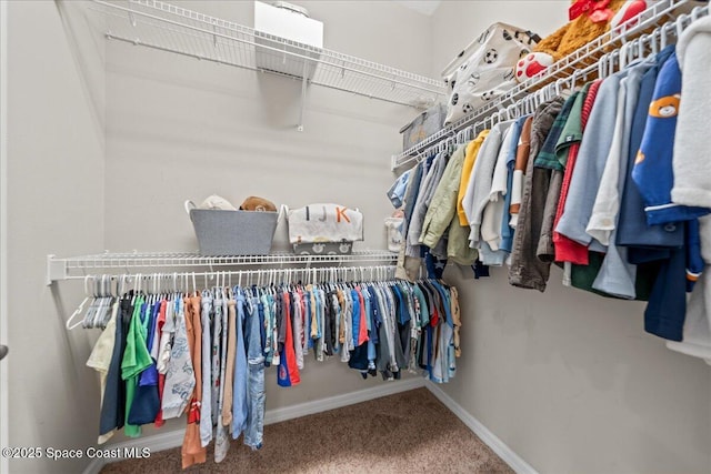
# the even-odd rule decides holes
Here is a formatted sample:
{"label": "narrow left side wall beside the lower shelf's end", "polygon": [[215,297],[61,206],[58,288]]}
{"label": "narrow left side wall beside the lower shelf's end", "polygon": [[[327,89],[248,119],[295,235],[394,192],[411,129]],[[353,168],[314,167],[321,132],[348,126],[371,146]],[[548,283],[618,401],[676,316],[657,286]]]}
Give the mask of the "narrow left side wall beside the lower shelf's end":
{"label": "narrow left side wall beside the lower shelf's end", "polygon": [[[10,446],[83,447],[96,441],[92,335],[64,320],[81,285],[44,285],[46,259],[103,242],[103,47],[79,6],[9,2],[8,340]],[[71,18],[70,18],[71,17]],[[88,81],[87,78],[91,78]],[[11,473],[78,472],[87,464],[10,462]]]}

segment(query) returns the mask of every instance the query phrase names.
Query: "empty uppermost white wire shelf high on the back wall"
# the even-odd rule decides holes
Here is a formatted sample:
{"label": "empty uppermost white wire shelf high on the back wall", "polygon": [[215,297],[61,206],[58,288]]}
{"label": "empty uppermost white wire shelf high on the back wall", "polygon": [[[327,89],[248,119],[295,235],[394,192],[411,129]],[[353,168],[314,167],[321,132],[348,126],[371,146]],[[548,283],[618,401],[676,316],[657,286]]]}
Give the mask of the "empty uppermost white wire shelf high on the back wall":
{"label": "empty uppermost white wire shelf high on the back wall", "polygon": [[107,16],[106,37],[111,40],[298,80],[306,77],[312,84],[403,105],[423,108],[444,99],[441,80],[266,34],[161,1],[93,0],[92,7]]}

